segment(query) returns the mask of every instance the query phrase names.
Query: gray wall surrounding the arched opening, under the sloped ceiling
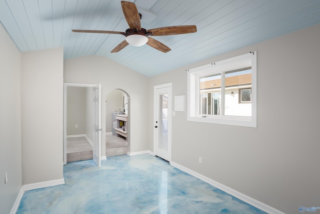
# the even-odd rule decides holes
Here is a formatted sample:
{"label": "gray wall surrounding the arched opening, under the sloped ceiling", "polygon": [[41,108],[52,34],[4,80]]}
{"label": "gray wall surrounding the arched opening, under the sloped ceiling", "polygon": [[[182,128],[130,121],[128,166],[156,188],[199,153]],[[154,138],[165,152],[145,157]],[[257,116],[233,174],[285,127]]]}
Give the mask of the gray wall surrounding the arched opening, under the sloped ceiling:
{"label": "gray wall surrounding the arched opening, under the sloped ceiling", "polygon": [[[122,89],[130,95],[130,133],[128,150],[137,152],[147,149],[147,77],[119,65],[105,57],[88,56],[64,61],[64,82],[101,84],[101,142],[105,142],[105,102],[103,98],[113,89]],[[101,155],[105,155],[105,143],[101,143]]]}

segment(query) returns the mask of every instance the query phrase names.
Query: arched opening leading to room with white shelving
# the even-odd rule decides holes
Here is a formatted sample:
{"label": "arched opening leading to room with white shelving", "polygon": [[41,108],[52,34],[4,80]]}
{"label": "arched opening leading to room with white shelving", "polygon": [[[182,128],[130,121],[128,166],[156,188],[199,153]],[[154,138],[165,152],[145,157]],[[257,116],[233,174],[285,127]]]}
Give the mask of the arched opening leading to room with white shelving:
{"label": "arched opening leading to room with white shelving", "polygon": [[105,156],[124,155],[130,151],[130,96],[113,89],[105,97]]}

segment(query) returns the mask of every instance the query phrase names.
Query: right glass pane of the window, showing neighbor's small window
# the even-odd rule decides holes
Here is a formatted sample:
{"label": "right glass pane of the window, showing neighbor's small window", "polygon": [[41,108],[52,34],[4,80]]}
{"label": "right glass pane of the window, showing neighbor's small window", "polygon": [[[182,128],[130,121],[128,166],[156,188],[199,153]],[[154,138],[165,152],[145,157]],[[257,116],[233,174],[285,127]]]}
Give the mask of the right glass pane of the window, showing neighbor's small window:
{"label": "right glass pane of the window, showing neighbor's small window", "polygon": [[224,115],[251,116],[251,69],[225,72],[224,86]]}

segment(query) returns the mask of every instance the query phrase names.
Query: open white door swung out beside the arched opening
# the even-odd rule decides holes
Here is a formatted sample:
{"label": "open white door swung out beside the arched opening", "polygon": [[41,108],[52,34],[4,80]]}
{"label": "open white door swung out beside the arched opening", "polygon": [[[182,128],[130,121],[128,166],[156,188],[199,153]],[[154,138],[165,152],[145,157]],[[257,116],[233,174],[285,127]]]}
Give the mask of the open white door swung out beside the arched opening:
{"label": "open white door swung out beside the arched opening", "polygon": [[101,167],[101,85],[93,87],[93,160]]}

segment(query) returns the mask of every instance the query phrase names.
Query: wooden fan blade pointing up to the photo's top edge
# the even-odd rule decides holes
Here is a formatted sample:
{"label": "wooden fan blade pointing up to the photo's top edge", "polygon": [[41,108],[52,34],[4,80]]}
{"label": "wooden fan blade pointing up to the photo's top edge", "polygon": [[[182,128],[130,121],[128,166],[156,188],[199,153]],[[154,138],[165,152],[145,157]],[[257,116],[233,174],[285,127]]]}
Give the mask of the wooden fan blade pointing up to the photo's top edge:
{"label": "wooden fan blade pointing up to the photo's top edge", "polygon": [[130,28],[141,30],[140,15],[134,3],[121,1],[121,7],[126,22]]}

